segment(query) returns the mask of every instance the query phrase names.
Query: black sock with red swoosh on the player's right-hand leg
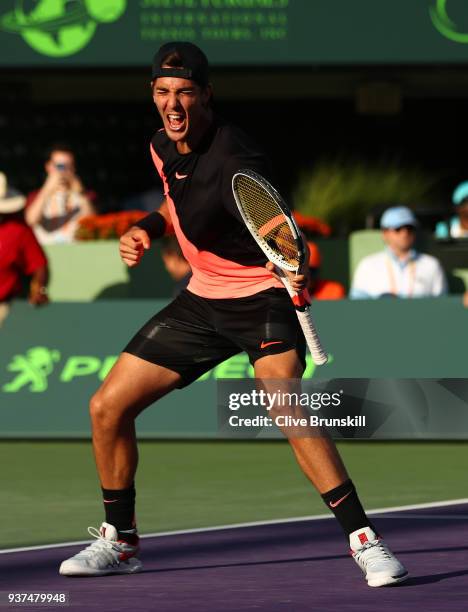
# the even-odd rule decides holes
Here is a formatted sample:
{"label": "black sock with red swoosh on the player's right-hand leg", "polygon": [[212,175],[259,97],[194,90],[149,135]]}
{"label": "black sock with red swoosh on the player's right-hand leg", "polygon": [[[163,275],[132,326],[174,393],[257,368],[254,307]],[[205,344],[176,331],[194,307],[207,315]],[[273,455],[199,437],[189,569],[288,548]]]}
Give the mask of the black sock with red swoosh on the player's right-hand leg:
{"label": "black sock with red swoosh on the player's right-hand leg", "polygon": [[359,501],[358,494],[351,480],[346,480],[343,484],[327,491],[322,495],[323,501],[336,516],[345,536],[357,529],[370,527],[376,531],[370,520],[367,518],[364,508]]}

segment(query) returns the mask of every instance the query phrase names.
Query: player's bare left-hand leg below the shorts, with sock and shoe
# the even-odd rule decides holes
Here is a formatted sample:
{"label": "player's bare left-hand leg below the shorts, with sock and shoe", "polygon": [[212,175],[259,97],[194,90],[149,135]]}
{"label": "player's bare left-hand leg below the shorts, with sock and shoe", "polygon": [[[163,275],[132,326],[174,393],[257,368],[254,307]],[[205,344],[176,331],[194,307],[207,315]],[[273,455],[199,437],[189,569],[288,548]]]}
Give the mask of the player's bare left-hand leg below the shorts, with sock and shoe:
{"label": "player's bare left-hand leg below the shorts, with sock and shoe", "polygon": [[180,381],[177,372],[122,353],[91,399],[93,449],[106,520],[99,531],[89,528],[96,541],[64,561],[60,574],[99,576],[140,571],[135,522],[135,418]]}

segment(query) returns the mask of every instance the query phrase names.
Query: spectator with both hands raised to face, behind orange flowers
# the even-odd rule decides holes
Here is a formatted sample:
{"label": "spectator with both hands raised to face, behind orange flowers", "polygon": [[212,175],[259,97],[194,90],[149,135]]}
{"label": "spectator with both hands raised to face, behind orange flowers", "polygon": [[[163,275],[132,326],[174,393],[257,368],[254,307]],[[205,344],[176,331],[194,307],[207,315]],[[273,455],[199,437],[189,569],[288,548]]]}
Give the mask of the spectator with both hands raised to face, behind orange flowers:
{"label": "spectator with both hands raised to face, behind orange flowers", "polygon": [[46,180],[26,202],[26,221],[41,244],[72,242],[78,220],[94,213],[95,194],[85,191],[75,173],[75,155],[67,146],[53,146],[45,164]]}

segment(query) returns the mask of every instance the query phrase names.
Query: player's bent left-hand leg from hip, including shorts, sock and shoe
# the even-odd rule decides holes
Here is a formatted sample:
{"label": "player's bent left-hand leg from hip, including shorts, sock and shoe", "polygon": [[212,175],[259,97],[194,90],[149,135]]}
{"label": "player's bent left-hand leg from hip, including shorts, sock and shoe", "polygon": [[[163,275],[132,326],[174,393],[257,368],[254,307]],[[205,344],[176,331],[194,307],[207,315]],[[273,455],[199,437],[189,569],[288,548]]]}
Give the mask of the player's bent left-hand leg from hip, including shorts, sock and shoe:
{"label": "player's bent left-hand leg from hip, including shorts, sock and shoe", "polygon": [[239,349],[220,337],[201,298],[182,292],[148,321],[91,400],[93,447],[106,521],[96,542],[62,563],[68,576],[139,571],[135,488],[135,418],[149,404],[190,384]]}

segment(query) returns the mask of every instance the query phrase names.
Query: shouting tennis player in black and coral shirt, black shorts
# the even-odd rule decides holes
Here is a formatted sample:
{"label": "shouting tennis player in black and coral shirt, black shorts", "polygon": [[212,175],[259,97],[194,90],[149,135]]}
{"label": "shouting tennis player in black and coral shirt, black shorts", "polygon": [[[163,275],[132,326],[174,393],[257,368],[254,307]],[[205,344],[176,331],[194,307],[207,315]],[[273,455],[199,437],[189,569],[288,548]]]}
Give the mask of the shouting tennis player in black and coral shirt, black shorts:
{"label": "shouting tennis player in black and coral shirt, black shorts", "polygon": [[[292,302],[232,195],[232,176],[241,168],[271,178],[267,158],[214,113],[208,61],[195,45],[163,45],[154,58],[151,85],[164,126],[152,139],[151,155],[166,197],[158,212],[121,238],[120,255],[129,267],[136,266],[170,225],[193,275],[188,287],[130,340],[91,400],[105,522],[99,531],[89,528],[93,544],[62,563],[65,576],[142,568],[134,487],[135,418],[142,410],[240,351],[248,353],[259,379],[300,378],[305,365],[304,336]],[[306,277],[291,274],[291,282],[301,290]],[[314,436],[290,443],[335,514],[368,584],[405,580],[406,569],[367,518],[333,441]]]}

